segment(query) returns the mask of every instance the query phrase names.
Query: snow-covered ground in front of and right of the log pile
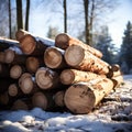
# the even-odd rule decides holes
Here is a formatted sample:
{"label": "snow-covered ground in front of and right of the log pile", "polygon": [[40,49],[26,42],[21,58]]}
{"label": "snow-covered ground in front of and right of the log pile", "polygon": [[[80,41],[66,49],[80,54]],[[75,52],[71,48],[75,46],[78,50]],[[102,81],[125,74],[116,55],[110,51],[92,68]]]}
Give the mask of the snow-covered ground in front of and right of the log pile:
{"label": "snow-covered ground in front of and right of the log pile", "polygon": [[132,132],[132,75],[88,114],[0,111],[0,132]]}

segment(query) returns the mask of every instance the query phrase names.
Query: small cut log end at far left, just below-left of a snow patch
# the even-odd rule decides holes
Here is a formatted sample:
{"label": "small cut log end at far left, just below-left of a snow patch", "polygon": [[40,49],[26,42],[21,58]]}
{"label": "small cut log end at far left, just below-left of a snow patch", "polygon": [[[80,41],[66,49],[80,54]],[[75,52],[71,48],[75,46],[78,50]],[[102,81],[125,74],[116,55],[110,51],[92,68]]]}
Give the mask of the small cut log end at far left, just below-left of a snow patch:
{"label": "small cut log end at far left, just below-left of a snow patch", "polygon": [[6,53],[4,62],[8,64],[12,63],[14,59],[14,54],[15,54],[14,51],[7,50],[4,53]]}

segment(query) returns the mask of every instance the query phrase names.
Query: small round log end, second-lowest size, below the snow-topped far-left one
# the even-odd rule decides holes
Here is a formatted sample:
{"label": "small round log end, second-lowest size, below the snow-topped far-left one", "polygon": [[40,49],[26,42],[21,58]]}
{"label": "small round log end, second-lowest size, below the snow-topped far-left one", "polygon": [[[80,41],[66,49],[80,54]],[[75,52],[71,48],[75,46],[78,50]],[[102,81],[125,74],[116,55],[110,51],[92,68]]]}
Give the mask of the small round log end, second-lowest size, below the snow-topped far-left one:
{"label": "small round log end, second-lowest size, below the snow-topped far-left one", "polygon": [[25,69],[22,65],[13,65],[10,68],[10,77],[13,79],[19,79],[24,72]]}

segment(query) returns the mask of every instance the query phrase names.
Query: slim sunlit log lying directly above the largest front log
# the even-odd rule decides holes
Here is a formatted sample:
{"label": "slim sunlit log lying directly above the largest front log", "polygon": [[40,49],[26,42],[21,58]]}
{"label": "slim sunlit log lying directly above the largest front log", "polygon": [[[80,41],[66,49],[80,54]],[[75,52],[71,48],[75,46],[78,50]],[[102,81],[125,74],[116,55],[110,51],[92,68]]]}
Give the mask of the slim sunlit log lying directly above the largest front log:
{"label": "slim sunlit log lying directly above the largest front log", "polygon": [[105,75],[97,75],[91,72],[82,72],[77,69],[64,69],[61,73],[61,81],[64,85],[72,85],[79,81],[89,81],[95,78],[102,78]]}

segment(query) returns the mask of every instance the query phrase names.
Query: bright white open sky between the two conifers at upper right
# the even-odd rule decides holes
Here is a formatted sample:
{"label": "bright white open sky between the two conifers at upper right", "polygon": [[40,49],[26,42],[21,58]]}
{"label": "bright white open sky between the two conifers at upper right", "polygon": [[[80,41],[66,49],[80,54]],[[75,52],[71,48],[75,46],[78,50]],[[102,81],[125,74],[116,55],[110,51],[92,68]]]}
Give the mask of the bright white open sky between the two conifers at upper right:
{"label": "bright white open sky between the two conifers at upper right", "polygon": [[110,35],[119,47],[128,21],[132,22],[132,0],[120,0],[119,8],[109,18],[111,19],[111,22],[108,23]]}

